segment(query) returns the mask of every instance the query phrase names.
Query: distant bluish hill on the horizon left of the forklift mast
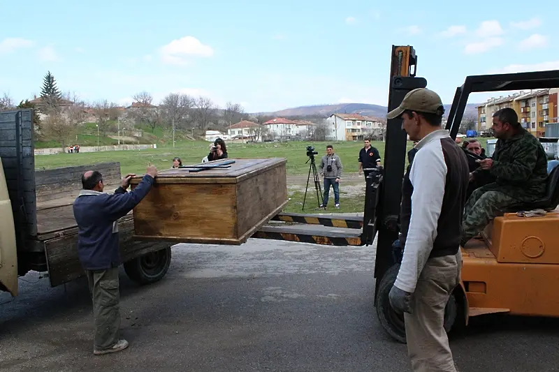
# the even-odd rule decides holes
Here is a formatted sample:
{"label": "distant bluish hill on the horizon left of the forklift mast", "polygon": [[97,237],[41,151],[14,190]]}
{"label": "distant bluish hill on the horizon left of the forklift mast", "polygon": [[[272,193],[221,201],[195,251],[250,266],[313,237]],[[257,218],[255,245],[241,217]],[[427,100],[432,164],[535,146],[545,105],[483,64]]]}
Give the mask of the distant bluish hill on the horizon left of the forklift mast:
{"label": "distant bluish hill on the horizon left of the forklift mast", "polygon": [[[468,103],[464,116],[473,115],[477,117],[478,103]],[[448,114],[451,105],[444,105],[444,112]],[[381,105],[370,105],[368,103],[339,103],[336,105],[312,105],[287,108],[275,112],[266,112],[266,115],[275,117],[310,117],[320,116],[329,117],[331,114],[362,114],[370,117],[386,117],[388,108]]]}

